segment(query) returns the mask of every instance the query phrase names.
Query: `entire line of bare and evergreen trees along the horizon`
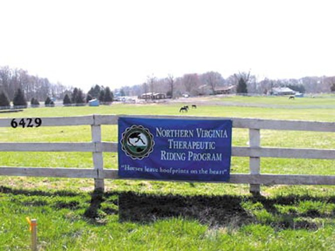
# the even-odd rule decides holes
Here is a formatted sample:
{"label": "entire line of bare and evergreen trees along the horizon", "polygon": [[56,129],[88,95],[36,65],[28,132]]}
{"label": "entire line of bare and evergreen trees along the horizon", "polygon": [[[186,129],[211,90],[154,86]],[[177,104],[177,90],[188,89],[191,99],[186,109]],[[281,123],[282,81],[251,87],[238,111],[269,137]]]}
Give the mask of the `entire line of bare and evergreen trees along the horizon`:
{"label": "entire line of bare and evergreen trees along the horizon", "polygon": [[[202,74],[189,73],[181,77],[169,74],[165,78],[157,78],[153,74],[147,76],[142,84],[123,86],[114,92],[120,96],[139,96],[143,93],[165,93],[168,97],[178,97],[183,93],[192,96],[215,94],[215,91],[228,86],[236,86],[237,93],[268,94],[274,87],[287,86],[301,93],[335,92],[335,76],[313,76],[299,79],[257,80],[250,72],[234,73],[223,78],[219,72],[208,71]],[[23,69],[0,67],[0,106],[9,106],[10,101],[16,106],[30,104],[38,106],[44,101],[53,106],[53,100],[62,99],[64,105],[82,105],[91,99],[98,99],[102,104],[109,104],[114,94],[109,87],[95,85],[85,94],[80,88],[66,87],[60,83],[50,83],[47,78],[32,76]]]}

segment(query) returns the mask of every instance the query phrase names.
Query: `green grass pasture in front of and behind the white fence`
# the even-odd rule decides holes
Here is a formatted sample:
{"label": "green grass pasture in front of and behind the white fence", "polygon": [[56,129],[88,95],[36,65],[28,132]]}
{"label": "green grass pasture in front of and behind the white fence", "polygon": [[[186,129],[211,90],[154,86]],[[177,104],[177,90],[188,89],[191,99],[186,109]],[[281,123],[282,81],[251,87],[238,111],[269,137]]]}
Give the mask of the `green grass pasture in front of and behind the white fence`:
{"label": "green grass pasture in front of and behind the white fence", "polygon": [[[298,99],[271,97],[283,107],[263,107],[269,99],[255,98],[229,97],[234,106],[212,100],[219,103],[197,104],[187,114],[179,113],[183,103],[112,104],[29,108],[0,118],[155,114],[335,121],[331,97],[304,98],[292,109],[284,105]],[[102,140],[116,141],[116,132],[116,126],[103,126]],[[89,141],[89,126],[0,128],[0,142]],[[247,130],[234,129],[232,141],[246,146]],[[262,130],[261,142],[335,148],[333,133],[323,132]],[[116,154],[104,155],[104,168],[116,168]],[[91,168],[92,158],[91,153],[0,152],[0,166]],[[232,158],[231,173],[247,172],[248,158]],[[261,172],[334,175],[335,161],[262,158]],[[335,249],[335,187],[262,186],[261,197],[252,197],[247,185],[105,180],[105,187],[106,193],[92,194],[90,179],[0,177],[0,248],[28,250],[29,216],[38,221],[40,250]]]}

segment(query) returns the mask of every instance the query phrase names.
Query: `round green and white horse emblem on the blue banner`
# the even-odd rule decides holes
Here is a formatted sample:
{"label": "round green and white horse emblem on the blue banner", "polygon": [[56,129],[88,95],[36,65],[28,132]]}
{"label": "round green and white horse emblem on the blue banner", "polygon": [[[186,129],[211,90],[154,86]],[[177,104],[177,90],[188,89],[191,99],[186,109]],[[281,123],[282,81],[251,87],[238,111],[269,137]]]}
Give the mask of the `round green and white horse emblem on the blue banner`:
{"label": "round green and white horse emblem on the blue banner", "polygon": [[120,143],[122,151],[133,160],[148,157],[154,145],[152,134],[141,125],[126,128]]}

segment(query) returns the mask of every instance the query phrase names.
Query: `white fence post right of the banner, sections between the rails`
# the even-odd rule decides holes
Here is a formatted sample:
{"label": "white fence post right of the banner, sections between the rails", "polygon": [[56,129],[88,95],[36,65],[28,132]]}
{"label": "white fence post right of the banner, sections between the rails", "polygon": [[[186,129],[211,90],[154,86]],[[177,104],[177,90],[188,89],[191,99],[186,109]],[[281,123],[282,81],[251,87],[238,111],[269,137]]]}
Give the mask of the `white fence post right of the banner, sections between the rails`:
{"label": "white fence post right of the banner, sections between the rails", "polygon": [[[259,129],[249,129],[249,145],[251,148],[260,147],[260,133]],[[260,158],[259,157],[250,157],[249,158],[249,168],[250,174],[259,174],[260,173]],[[250,193],[253,195],[260,194],[260,185],[259,184],[250,184]]]}

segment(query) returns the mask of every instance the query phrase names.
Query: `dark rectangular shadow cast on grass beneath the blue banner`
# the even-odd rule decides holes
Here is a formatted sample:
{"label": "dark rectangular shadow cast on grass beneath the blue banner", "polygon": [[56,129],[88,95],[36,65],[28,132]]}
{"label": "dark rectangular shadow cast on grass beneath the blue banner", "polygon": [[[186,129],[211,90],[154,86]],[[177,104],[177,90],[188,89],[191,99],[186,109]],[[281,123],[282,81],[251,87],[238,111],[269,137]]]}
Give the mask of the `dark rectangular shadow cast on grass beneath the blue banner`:
{"label": "dark rectangular shadow cast on grass beneath the blue banner", "polygon": [[119,194],[119,220],[149,223],[156,219],[181,217],[195,219],[209,226],[234,224],[241,226],[252,217],[241,207],[241,198],[234,196],[178,196]]}

